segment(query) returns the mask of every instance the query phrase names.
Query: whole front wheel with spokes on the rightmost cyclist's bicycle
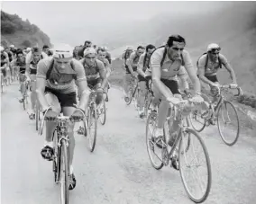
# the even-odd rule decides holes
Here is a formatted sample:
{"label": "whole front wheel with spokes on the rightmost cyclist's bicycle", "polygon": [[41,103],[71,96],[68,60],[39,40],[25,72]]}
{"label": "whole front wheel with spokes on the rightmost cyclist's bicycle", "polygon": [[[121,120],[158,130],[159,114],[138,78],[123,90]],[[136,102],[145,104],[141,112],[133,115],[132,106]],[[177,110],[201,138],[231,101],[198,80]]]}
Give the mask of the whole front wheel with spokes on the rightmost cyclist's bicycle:
{"label": "whole front wheel with spokes on the rightmost cyclist's bicycle", "polygon": [[239,118],[232,102],[224,101],[217,113],[217,124],[224,143],[233,146],[239,137]]}

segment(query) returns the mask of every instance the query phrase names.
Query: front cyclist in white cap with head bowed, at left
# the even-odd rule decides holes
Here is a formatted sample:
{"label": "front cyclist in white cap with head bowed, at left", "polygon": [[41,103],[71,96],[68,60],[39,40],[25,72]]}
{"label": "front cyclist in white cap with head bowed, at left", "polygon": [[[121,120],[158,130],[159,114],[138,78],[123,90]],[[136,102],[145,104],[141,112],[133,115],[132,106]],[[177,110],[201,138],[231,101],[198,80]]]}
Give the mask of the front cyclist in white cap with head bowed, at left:
{"label": "front cyclist in white cap with head bowed, at left", "polygon": [[[54,49],[53,58],[43,58],[38,63],[36,75],[37,99],[47,120],[55,120],[62,111],[72,120],[83,118],[87,108],[89,89],[84,68],[78,60],[72,58],[72,49],[63,46]],[[78,81],[81,90],[81,99],[77,105],[74,80]],[[56,123],[46,122],[46,137],[41,156],[52,160],[52,134]],[[69,190],[76,187],[76,178],[73,172],[73,156],[75,148],[74,123],[69,123]]]}

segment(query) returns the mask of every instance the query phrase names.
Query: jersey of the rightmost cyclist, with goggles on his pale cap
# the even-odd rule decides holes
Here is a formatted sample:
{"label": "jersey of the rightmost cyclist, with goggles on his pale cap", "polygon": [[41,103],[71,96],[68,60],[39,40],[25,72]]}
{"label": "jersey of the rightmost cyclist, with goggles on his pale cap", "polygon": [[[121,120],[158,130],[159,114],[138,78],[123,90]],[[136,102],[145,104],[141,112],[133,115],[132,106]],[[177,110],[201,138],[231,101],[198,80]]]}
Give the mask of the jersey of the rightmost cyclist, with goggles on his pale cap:
{"label": "jersey of the rightmost cyclist, with goggles on his pale cap", "polygon": [[[208,58],[207,65],[206,65],[206,58],[207,55],[203,55],[201,58],[198,60],[198,66],[197,68],[203,68],[205,69],[205,75],[216,75],[218,69],[220,68],[220,63],[222,63],[224,66],[228,64],[227,59],[224,57],[224,55],[219,54],[219,59],[221,62],[219,62],[219,59],[217,58],[215,62],[211,61],[210,58]],[[198,73],[198,70],[197,70]]]}

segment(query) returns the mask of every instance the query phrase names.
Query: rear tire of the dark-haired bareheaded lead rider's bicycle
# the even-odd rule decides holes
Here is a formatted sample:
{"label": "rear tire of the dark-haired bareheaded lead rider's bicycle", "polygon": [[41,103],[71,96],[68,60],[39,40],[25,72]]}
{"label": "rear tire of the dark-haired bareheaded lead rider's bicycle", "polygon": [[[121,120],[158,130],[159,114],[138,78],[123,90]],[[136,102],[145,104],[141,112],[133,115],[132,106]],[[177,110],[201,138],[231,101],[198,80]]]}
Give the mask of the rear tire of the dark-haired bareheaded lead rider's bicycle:
{"label": "rear tire of the dark-haired bareheaded lead rider's bicycle", "polygon": [[[148,152],[148,155],[150,157],[150,160],[151,160],[151,165],[156,169],[156,170],[160,170],[162,167],[163,167],[163,162],[160,160],[160,158],[158,158],[160,160],[160,164],[156,164],[152,158],[152,155],[151,155],[151,148],[154,148],[152,147],[152,141],[150,139],[150,136],[149,136],[149,133],[150,133],[150,125],[151,125],[151,120],[155,120],[157,117],[157,113],[156,112],[151,112],[151,114],[149,115],[148,117],[148,120],[147,120],[147,124],[146,124],[146,146],[147,146],[147,152]],[[149,141],[151,142],[151,145],[149,144]],[[154,150],[153,150],[154,151]],[[157,155],[158,157],[158,155]]]}

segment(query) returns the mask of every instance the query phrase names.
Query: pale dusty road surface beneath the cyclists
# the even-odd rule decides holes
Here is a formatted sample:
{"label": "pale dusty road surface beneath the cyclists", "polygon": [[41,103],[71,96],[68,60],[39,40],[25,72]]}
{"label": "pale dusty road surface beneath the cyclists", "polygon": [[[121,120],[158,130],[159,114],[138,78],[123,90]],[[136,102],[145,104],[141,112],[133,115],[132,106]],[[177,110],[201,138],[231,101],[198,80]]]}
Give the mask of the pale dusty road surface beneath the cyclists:
{"label": "pale dusty road surface beneath the cyclists", "polygon": [[[43,137],[18,102],[18,84],[5,87],[1,106],[1,203],[56,204],[59,186],[53,182],[51,163],[41,158]],[[145,122],[134,106],[127,107],[122,92],[110,90],[105,126],[98,125],[96,150],[87,149],[85,137],[76,136],[74,173],[77,187],[70,203],[188,204],[178,171],[152,168],[145,144]],[[202,133],[203,134],[203,133]],[[207,204],[256,203],[256,143],[242,136],[225,146],[215,127],[204,131],[213,183]]]}

